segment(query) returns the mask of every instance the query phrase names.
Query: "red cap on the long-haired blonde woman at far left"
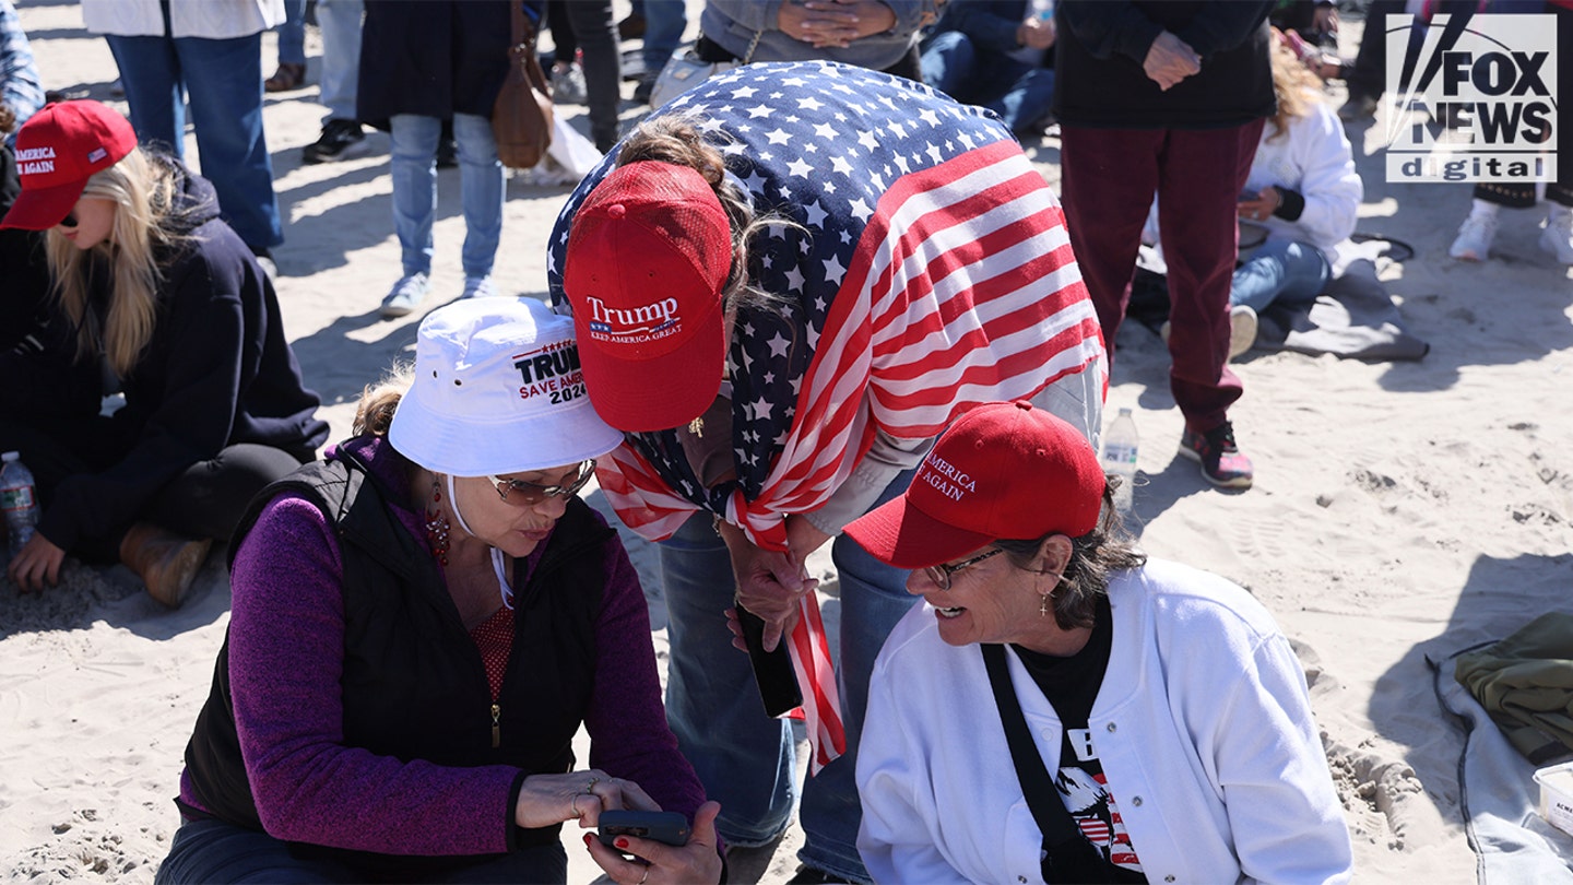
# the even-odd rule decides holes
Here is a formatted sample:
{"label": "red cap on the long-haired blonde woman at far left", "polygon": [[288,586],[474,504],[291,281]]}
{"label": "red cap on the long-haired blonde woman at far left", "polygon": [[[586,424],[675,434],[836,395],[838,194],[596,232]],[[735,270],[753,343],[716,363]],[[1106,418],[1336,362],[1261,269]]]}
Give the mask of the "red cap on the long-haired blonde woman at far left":
{"label": "red cap on the long-haired blonde woman at far left", "polygon": [[131,123],[96,101],[46,104],[16,134],[16,168],[22,194],[0,228],[49,230],[82,198],[94,172],[120,162],[137,146]]}

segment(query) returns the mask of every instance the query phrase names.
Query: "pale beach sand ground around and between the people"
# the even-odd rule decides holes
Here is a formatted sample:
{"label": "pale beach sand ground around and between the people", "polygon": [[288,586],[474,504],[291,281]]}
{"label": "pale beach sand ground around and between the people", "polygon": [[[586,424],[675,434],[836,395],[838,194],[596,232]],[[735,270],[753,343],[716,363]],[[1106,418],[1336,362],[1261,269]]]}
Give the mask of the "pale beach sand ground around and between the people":
{"label": "pale beach sand ground around and between the people", "polygon": [[[19,5],[46,85],[109,101],[113,61],[80,30],[77,6]],[[398,276],[387,139],[373,135],[378,151],[365,159],[299,165],[322,113],[315,30],[308,39],[313,85],[269,98],[266,110],[288,219],[278,291],[307,383],[341,438],[360,387],[409,356],[420,315],[376,317]],[[264,72],[274,58],[267,38]],[[566,110],[587,131],[582,109]],[[1238,365],[1246,395],[1232,411],[1257,465],[1257,485],[1243,494],[1210,488],[1175,455],[1181,419],[1167,354],[1136,324],[1120,337],[1107,405],[1136,409],[1147,550],[1251,587],[1299,644],[1359,879],[1471,882],[1461,737],[1438,712],[1422,652],[1452,652],[1570,606],[1573,416],[1559,403],[1573,285],[1535,249],[1543,211],[1505,213],[1491,261],[1450,261],[1468,186],[1389,186],[1380,132],[1361,126],[1351,137],[1367,187],[1361,230],[1414,246],[1386,279],[1431,353],[1414,364],[1247,356]],[[1057,180],[1057,143],[1030,150]],[[426,309],[462,283],[458,175],[440,180],[437,294]],[[510,184],[502,291],[544,293],[543,244],[566,192]],[[650,546],[624,537],[648,568]],[[9,880],[151,882],[178,825],[170,800],[228,603],[217,557],[178,613],[120,567],[69,564],[64,584],[44,595],[0,586],[0,871]],[[664,613],[658,605],[651,614],[664,654]],[[736,858],[735,880],[783,882],[799,841],[794,830],[774,852]],[[568,846],[573,880],[590,880],[596,869],[576,835]]]}

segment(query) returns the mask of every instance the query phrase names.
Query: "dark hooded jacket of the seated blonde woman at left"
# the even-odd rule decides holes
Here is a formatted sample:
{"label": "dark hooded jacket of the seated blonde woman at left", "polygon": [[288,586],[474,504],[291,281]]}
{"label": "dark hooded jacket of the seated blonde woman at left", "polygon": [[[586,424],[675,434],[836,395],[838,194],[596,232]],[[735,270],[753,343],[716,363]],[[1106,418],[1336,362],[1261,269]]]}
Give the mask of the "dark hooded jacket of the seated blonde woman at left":
{"label": "dark hooded jacket of the seated blonde woman at left", "polygon": [[[116,380],[126,405],[110,433],[124,457],[63,480],[39,521],[38,531],[64,550],[134,521],[164,485],[227,446],[258,442],[305,461],[327,439],[327,422],[316,417],[321,400],[305,389],[285,340],[272,280],[219,219],[212,184],[176,161],[156,162],[175,167],[175,217],[186,236],[156,254],[153,337]],[[109,274],[94,271],[90,301],[104,312]]]}

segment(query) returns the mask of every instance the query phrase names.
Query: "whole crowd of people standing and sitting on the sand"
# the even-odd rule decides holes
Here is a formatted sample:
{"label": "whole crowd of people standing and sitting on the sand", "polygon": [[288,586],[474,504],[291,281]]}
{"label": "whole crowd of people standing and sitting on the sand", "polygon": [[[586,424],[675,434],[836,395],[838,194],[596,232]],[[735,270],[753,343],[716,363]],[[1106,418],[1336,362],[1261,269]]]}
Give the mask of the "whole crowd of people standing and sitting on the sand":
{"label": "whole crowd of people standing and sitting on the sand", "polygon": [[[549,238],[549,304],[492,280],[510,2],[604,153]],[[82,8],[129,120],[46,104],[0,0],[0,450],[42,502],[6,576],[120,561],[179,606],[228,545],[159,882],[562,882],[563,824],[662,809],[680,844],[585,836],[610,880],[725,880],[793,820],[798,882],[1350,877],[1288,641],[1243,589],[1148,559],[1096,454],[1151,214],[1180,452],[1252,485],[1240,318],[1323,291],[1362,194],[1320,90],[1353,68],[1290,49],[1335,31],[1329,3],[708,0],[692,52],[760,65],[626,132],[618,43],[643,35],[643,101],[681,2]],[[429,294],[445,148],[466,222],[462,291],[343,441],[285,340],[261,120],[308,80],[311,14],[304,161],[390,134],[382,317]],[[1019,142],[1051,124],[1059,195]],[[1545,239],[1573,261],[1565,191]],[[1268,236],[1240,261],[1243,224]],[[664,691],[591,479],[659,543]],[[834,661],[805,570],[826,545]],[[755,688],[780,652],[802,784]]]}

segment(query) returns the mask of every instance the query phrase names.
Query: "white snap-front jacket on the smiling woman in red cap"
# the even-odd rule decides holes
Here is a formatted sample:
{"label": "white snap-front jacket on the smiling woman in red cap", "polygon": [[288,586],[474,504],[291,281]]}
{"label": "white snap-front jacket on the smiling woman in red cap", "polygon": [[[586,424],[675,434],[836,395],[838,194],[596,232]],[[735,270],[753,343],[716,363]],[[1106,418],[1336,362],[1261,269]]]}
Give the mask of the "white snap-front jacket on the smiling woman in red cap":
{"label": "white snap-front jacket on the smiling woman in red cap", "polygon": [[[1150,561],[1109,587],[1114,641],[1089,728],[1148,882],[1346,882],[1351,846],[1306,677],[1268,611],[1206,572]],[[1044,765],[1060,720],[1011,652]],[[857,847],[875,882],[1041,882],[977,646],[914,608],[870,682]]]}

